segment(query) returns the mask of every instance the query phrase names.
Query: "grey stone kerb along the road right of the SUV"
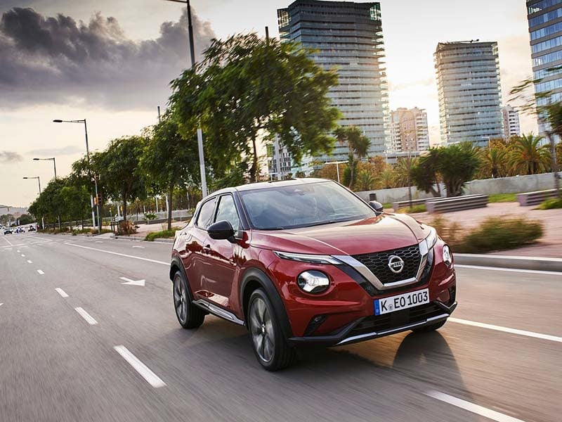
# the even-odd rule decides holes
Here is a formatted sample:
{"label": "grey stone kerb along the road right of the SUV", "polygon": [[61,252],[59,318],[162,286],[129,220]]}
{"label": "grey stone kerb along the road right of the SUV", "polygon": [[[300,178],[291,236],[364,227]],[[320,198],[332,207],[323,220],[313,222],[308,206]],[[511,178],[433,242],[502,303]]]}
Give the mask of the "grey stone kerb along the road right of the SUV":
{"label": "grey stone kerb along the road right of the SUV", "polygon": [[562,272],[562,258],[516,257],[513,255],[478,255],[455,253],[455,264],[479,267],[531,269]]}

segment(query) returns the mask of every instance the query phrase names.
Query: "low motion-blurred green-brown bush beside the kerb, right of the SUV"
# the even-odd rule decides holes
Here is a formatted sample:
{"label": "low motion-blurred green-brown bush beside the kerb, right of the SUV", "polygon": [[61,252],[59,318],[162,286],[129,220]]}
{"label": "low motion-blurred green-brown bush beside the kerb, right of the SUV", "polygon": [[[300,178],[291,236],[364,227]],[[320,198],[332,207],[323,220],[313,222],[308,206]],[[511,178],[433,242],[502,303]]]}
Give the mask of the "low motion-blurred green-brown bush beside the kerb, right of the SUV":
{"label": "low motion-blurred green-brown bush beside the kerb, right of the SUV", "polygon": [[541,222],[529,221],[525,217],[489,217],[475,229],[463,231],[456,222],[437,217],[431,223],[439,236],[452,245],[453,252],[486,253],[495,250],[510,250],[529,245],[541,238]]}

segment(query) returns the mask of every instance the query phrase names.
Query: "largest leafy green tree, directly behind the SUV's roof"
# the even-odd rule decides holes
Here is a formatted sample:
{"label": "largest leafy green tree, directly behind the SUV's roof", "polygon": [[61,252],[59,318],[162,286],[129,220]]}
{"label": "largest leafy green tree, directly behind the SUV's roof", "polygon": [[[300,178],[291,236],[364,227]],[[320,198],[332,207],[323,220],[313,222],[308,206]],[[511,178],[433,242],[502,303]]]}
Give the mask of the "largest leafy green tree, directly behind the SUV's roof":
{"label": "largest leafy green tree, directly behind the SUV's roof", "polygon": [[328,153],[339,112],[327,92],[335,71],[322,70],[310,51],[293,42],[256,34],[214,39],[203,60],[172,82],[170,105],[188,131],[200,124],[207,148],[220,152],[211,163],[222,174],[249,160],[249,177],[259,177],[259,141],[278,136],[296,162],[304,154]]}

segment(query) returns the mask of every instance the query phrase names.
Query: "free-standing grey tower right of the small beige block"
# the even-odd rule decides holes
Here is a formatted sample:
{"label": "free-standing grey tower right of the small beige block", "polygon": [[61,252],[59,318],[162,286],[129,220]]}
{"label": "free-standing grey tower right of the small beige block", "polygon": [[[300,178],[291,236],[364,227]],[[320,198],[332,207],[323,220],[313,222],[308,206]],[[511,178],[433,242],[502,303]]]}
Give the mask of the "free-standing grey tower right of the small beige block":
{"label": "free-standing grey tower right of the small beige block", "polygon": [[440,42],[434,54],[441,143],[504,136],[496,42]]}

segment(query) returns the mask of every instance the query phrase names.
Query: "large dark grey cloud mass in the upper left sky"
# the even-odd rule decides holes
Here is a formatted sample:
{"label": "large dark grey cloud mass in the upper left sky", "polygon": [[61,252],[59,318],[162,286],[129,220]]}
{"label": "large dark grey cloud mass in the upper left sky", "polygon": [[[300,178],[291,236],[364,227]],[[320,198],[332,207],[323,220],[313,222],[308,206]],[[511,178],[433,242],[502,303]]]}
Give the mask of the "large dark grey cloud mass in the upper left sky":
{"label": "large dark grey cloud mass in the upper left sky", "polygon": [[[197,56],[214,32],[192,13]],[[89,23],[59,13],[11,8],[0,19],[0,108],[45,103],[113,110],[166,102],[169,82],[190,65],[187,13],[164,22],[156,39],[129,39],[117,19]]]}

